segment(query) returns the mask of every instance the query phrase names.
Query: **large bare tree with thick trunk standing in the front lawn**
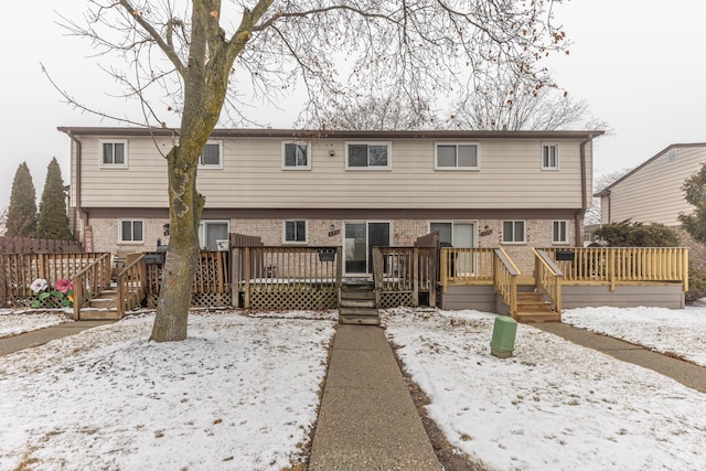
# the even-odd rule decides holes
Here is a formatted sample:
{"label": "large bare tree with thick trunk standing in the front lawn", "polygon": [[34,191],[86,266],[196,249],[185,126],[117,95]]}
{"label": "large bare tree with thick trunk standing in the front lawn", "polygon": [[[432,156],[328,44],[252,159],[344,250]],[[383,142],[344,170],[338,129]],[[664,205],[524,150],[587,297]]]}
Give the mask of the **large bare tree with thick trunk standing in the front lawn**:
{"label": "large bare tree with thick trunk standing in the front lawn", "polygon": [[560,1],[92,0],[85,22],[65,20],[101,54],[127,61],[129,72],[106,69],[141,101],[143,117],[133,122],[181,117],[165,156],[172,236],[151,339],[186,336],[205,204],[195,185],[199,156],[216,124],[247,120],[246,85],[274,103],[303,86],[308,122],[338,97],[394,88],[426,98],[460,89],[468,77],[480,84],[499,64],[542,85],[548,77],[538,63],[567,46],[552,25]]}

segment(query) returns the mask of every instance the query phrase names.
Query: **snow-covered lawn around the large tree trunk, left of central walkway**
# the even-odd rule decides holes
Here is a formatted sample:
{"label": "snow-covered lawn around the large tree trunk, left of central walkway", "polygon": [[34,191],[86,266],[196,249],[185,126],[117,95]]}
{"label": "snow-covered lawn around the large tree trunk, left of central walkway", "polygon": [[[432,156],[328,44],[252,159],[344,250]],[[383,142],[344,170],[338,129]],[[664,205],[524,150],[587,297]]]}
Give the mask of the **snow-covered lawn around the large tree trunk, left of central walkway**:
{"label": "snow-covered lawn around the large tree trunk, left of central walkway", "polygon": [[146,341],[152,322],[0,356],[0,469],[281,470],[300,459],[333,321],[192,314],[189,339],[165,344]]}

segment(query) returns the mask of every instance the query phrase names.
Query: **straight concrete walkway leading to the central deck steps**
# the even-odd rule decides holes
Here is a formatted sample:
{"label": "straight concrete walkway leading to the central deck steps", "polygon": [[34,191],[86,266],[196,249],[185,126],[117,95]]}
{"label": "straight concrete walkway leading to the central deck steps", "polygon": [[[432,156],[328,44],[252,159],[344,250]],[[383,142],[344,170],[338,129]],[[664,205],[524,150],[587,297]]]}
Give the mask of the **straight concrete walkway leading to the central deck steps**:
{"label": "straight concrete walkway leading to the central deck steps", "polygon": [[338,328],[309,461],[323,470],[442,470],[381,328]]}

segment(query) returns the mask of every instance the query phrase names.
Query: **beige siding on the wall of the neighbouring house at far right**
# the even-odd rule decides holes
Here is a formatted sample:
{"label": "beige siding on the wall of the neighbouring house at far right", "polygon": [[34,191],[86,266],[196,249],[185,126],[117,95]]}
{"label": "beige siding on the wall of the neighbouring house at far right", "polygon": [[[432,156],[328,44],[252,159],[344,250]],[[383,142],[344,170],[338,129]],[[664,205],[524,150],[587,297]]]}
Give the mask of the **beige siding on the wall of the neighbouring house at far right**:
{"label": "beige siding on the wall of the neighbouring house at far right", "polygon": [[676,162],[667,163],[665,152],[610,190],[610,222],[632,218],[680,225],[680,213],[693,211],[684,200],[682,185],[706,160],[706,148],[680,148],[677,152]]}

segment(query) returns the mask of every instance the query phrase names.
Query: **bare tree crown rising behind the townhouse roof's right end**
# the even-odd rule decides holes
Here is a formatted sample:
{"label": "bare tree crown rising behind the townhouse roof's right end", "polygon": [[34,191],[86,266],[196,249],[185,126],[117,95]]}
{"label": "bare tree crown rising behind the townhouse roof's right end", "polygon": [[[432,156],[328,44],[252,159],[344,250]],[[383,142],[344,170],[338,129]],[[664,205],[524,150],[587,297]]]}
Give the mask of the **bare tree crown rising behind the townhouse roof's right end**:
{"label": "bare tree crown rising behind the townhouse roof's right end", "polygon": [[606,129],[585,100],[550,84],[500,71],[488,82],[470,87],[453,106],[450,122],[462,129]]}

